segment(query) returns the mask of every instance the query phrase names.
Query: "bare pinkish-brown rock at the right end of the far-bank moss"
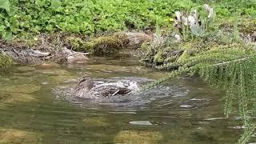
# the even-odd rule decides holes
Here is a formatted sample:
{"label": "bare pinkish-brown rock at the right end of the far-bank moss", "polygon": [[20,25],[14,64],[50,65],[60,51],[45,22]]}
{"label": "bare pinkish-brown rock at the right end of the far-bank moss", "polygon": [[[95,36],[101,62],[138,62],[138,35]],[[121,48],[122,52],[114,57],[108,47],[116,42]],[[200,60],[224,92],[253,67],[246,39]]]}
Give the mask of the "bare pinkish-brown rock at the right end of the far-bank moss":
{"label": "bare pinkish-brown rock at the right end of the far-bank moss", "polygon": [[128,46],[132,49],[138,49],[143,42],[152,41],[153,38],[144,33],[126,33],[129,43]]}

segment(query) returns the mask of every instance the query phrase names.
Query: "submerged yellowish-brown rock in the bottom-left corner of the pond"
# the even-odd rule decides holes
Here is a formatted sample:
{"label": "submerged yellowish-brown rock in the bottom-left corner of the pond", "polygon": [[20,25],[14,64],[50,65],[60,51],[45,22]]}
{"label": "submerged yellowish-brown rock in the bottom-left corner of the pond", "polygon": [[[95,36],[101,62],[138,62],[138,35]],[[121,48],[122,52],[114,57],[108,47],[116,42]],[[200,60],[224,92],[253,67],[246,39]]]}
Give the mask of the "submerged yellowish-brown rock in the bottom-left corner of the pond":
{"label": "submerged yellowish-brown rock in the bottom-left corner of the pond", "polygon": [[42,135],[14,129],[0,129],[0,143],[38,144],[42,143]]}

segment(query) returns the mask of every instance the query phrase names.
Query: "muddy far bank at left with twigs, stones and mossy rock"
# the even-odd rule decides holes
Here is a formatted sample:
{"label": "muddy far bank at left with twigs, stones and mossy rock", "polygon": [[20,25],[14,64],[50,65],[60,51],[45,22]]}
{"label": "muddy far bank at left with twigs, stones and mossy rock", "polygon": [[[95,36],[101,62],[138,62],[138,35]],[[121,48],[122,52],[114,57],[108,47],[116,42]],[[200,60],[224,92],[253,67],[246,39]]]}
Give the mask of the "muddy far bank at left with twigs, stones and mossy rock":
{"label": "muddy far bank at left with twigs, stones and mossy rock", "polygon": [[[143,42],[152,38],[143,33],[118,33],[110,36],[102,36],[91,39],[70,35],[39,35],[34,42],[2,43],[0,51],[21,64],[34,64],[46,61],[58,63],[88,62],[88,54],[91,56],[106,56],[117,54],[120,50],[136,50]],[[3,61],[0,58],[0,61]],[[2,62],[3,63],[3,62]]]}

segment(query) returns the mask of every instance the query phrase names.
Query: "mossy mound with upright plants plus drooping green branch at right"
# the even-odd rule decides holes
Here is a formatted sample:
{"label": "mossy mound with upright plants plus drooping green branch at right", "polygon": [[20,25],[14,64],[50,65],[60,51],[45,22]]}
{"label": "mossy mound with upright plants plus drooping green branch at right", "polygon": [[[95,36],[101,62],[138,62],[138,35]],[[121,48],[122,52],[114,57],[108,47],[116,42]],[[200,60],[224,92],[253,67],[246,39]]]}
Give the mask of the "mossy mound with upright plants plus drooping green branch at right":
{"label": "mossy mound with upright plants plus drooping green branch at right", "polygon": [[[246,127],[238,143],[246,143],[256,129],[252,119],[256,110],[256,45],[240,37],[238,21],[234,22],[232,31],[225,33],[214,22],[213,9],[207,5],[204,7],[206,14],[200,15],[201,20],[196,19],[197,16],[192,17],[192,12],[187,17],[189,22],[179,21],[177,18],[177,31],[181,32],[179,34],[182,34],[182,40],[157,34],[154,42],[143,46],[144,64],[170,70],[166,77],[146,85],[145,88],[182,75],[199,75],[210,85],[226,90],[226,118],[238,108]],[[196,22],[190,23],[189,18]]]}

